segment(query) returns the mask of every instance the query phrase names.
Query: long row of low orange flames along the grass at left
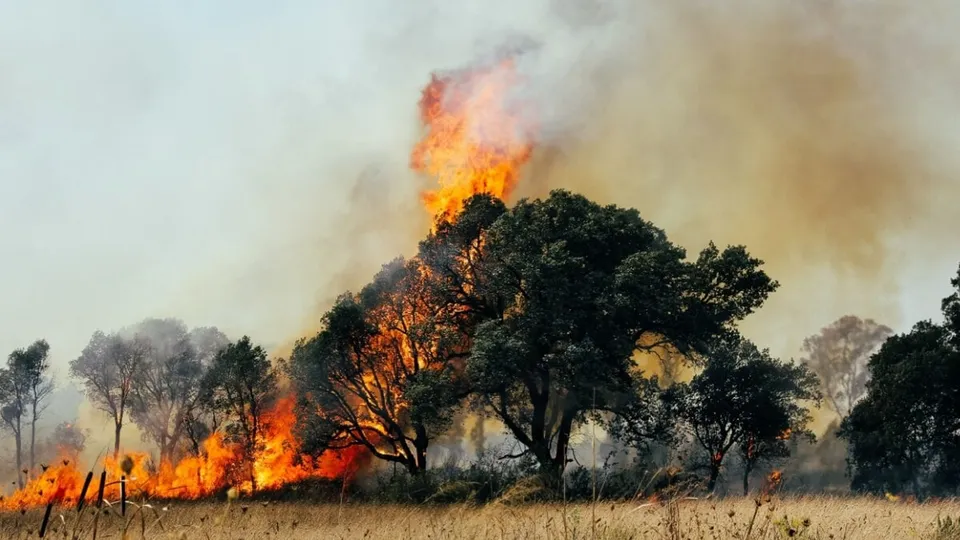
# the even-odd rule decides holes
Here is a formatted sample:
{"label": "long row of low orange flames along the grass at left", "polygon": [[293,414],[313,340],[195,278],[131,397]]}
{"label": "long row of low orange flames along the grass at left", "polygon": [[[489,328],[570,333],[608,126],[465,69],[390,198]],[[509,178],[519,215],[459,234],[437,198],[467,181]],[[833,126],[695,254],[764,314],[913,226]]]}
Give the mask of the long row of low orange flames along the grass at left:
{"label": "long row of low orange flames along the grass at left", "polygon": [[[327,451],[318,459],[301,454],[293,433],[294,403],[293,396],[284,397],[264,415],[266,429],[252,463],[257,489],[272,490],[307,479],[352,479],[369,459],[366,451],[361,448]],[[249,494],[252,491],[249,473],[238,469],[243,463],[242,456],[238,445],[227,442],[223,434],[217,432],[203,442],[201,455],[185,457],[176,464],[163,462],[154,468],[148,454],[130,452],[125,457],[132,462],[132,467],[126,474],[122,458],[107,457],[103,466],[107,473],[104,498],[111,501],[120,498],[123,476],[126,476],[128,496],[199,499],[230,487]],[[23,489],[0,500],[0,509],[19,510],[51,502],[74,504],[81,496],[85,477],[86,471],[78,468],[73,460],[58,459]],[[85,494],[88,502],[96,500],[98,488],[99,476],[95,474]]]}

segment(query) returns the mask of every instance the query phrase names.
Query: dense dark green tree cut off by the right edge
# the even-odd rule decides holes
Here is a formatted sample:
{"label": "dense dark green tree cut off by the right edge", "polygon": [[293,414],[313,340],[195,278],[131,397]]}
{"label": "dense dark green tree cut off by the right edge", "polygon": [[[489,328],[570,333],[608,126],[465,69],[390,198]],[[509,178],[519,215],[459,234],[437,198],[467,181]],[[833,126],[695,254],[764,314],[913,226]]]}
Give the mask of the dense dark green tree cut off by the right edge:
{"label": "dense dark green tree cut off by the right edge", "polygon": [[960,488],[960,270],[944,322],[888,338],[867,365],[866,396],[840,426],[851,487],[956,494]]}

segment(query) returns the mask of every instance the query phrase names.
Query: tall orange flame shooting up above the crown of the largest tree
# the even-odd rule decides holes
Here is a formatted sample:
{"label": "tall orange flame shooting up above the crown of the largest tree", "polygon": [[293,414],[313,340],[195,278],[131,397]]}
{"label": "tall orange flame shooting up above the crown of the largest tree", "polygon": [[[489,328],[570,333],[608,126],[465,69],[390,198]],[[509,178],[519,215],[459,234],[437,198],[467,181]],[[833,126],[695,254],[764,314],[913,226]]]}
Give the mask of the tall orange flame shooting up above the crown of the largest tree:
{"label": "tall orange flame shooting up above the crown of the largest tree", "polygon": [[512,92],[521,83],[512,58],[480,69],[433,75],[420,99],[427,132],[410,156],[440,184],[422,194],[435,219],[450,219],[479,193],[504,199],[533,153],[534,125]]}

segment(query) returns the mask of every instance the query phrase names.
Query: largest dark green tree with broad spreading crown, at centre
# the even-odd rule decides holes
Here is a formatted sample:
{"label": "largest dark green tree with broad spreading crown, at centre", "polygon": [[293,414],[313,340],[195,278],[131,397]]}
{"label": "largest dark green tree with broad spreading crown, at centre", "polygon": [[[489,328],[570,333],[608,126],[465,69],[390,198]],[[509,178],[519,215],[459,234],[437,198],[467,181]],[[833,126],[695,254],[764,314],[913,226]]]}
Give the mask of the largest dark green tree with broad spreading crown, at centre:
{"label": "largest dark green tree with broad spreading crown, at centre", "polygon": [[[489,214],[468,204],[455,223]],[[694,356],[777,286],[742,247],[711,244],[688,262],[635,210],[565,191],[520,201],[477,229],[482,261],[451,266],[448,276],[465,267],[469,277],[441,282],[472,338],[467,380],[551,474],[565,467],[570,435],[589,412],[630,403],[636,350],[670,343]],[[641,345],[649,336],[658,339]]]}

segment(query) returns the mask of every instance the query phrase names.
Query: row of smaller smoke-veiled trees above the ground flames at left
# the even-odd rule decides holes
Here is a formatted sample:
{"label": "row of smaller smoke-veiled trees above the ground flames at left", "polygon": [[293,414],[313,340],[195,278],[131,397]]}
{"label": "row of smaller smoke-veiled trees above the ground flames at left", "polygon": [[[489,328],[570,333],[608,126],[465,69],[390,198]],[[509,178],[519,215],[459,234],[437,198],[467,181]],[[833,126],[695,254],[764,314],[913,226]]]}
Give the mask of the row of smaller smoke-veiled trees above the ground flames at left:
{"label": "row of smaller smoke-veiled trees above the ground flames at left", "polygon": [[[14,436],[20,487],[37,465],[45,467],[39,455],[76,458],[86,444],[85,433],[61,424],[37,449],[36,423],[55,388],[49,350],[46,341],[37,341],[12,352],[0,370],[3,421]],[[87,400],[112,419],[114,457],[123,427],[132,422],[155,445],[160,462],[200,455],[203,441],[217,430],[240,443],[250,462],[259,418],[276,394],[278,369],[246,336],[230,342],[217,328],[147,319],[109,334],[94,332],[69,372]]]}

